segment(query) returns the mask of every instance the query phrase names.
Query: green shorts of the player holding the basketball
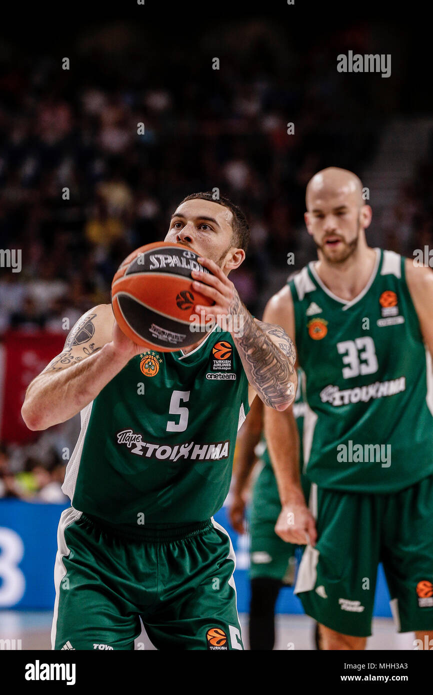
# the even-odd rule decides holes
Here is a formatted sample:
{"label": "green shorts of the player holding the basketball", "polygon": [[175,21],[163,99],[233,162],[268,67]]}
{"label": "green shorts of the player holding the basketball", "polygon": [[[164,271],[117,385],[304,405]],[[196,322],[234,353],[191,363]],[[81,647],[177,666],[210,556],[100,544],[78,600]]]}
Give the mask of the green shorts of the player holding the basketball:
{"label": "green shorts of the player holding the basketball", "polygon": [[52,648],[133,650],[141,617],[158,649],[243,650],[234,567],[229,536],[213,519],[128,535],[65,509]]}

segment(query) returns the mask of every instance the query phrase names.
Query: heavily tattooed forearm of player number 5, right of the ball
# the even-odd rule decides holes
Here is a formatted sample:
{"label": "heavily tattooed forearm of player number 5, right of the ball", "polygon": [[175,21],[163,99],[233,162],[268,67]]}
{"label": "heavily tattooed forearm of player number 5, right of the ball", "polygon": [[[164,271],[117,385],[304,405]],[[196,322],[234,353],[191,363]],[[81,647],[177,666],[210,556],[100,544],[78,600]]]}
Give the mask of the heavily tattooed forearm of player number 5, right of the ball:
{"label": "heavily tattooed forearm of player number 5, right of the ball", "polygon": [[[271,408],[290,404],[297,383],[296,350],[291,338],[279,326],[256,322],[236,295],[231,313],[243,315],[242,334],[234,340],[248,381]],[[277,344],[270,338],[277,338]]]}

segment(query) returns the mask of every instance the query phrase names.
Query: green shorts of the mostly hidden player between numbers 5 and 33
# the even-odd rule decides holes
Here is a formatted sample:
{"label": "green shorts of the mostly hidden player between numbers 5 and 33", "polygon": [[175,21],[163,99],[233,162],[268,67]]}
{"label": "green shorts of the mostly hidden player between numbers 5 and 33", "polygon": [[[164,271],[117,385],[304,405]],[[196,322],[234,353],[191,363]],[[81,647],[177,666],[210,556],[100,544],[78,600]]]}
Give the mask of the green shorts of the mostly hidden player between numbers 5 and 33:
{"label": "green shorts of the mostly hidden player between numbers 5 and 33", "polygon": [[[304,494],[309,494],[309,482],[302,481]],[[277,579],[291,586],[295,578],[295,550],[298,546],[286,543],[275,533],[281,512],[277,481],[271,466],[263,466],[256,478],[250,509],[250,579]]]}

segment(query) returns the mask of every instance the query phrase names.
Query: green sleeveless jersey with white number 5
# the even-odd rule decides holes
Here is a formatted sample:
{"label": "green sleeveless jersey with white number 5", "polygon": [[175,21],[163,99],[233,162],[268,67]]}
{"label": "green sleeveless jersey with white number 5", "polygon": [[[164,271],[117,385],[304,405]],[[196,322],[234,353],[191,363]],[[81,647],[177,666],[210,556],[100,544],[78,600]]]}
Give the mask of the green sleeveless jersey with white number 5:
{"label": "green sleeveless jersey with white number 5", "polygon": [[81,411],[63,491],[115,524],[209,519],[229,490],[248,382],[231,334],[137,355]]}

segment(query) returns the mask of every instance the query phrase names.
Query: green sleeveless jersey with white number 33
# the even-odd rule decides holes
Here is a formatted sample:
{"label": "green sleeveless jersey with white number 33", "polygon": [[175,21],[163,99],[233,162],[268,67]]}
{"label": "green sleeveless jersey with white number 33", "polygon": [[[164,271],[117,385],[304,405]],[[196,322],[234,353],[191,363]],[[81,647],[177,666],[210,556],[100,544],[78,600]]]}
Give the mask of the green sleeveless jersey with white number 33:
{"label": "green sleeveless jersey with white number 33", "polygon": [[309,263],[289,282],[305,374],[304,471],[319,486],[391,493],[433,473],[432,366],[405,259],[376,249],[347,302]]}

